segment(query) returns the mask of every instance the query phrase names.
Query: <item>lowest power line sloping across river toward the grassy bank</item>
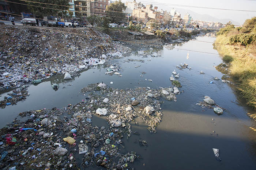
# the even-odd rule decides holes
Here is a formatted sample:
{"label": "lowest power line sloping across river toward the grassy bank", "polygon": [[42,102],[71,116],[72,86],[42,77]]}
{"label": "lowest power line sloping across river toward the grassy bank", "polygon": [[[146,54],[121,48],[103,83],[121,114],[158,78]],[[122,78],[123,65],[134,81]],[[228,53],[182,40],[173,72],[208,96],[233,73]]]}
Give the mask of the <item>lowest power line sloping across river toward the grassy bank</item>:
{"label": "lowest power line sloping across river toward the grassy bank", "polygon": [[[0,21],[4,21],[4,20],[0,20]],[[19,24],[19,23],[16,23],[16,24]],[[23,25],[23,24],[19,24],[19,25]],[[29,26],[29,27],[32,27],[32,28],[37,28],[37,29],[45,29],[45,30],[50,30],[50,31],[62,32],[62,33],[69,33],[69,34],[75,34],[75,35],[81,35],[81,36],[87,36],[87,37],[94,37],[94,38],[106,39],[106,37],[85,35],[85,34],[74,33],[74,32],[65,32],[65,31],[60,31],[60,30],[52,30],[52,29],[49,29],[49,28],[42,28],[42,27],[33,27],[33,26],[30,26],[30,25],[28,25],[28,26]],[[108,38],[108,39],[114,40],[114,41],[123,41],[123,42],[127,42],[127,43],[132,43],[132,44],[143,44],[143,45],[148,45],[148,46],[165,47],[165,46],[163,46],[163,45],[157,45],[157,44],[137,43],[137,42],[133,42],[133,41],[118,40],[118,39],[113,39],[113,38]],[[175,47],[174,47],[173,49],[184,50],[184,51],[192,51],[192,52],[200,52],[200,53],[213,54],[213,55],[225,55],[225,54],[216,54],[216,53],[211,53],[211,52],[195,51],[195,50],[188,50],[188,49],[175,48]],[[256,60],[256,59],[254,59],[254,58],[244,58],[244,57],[239,57],[239,56],[232,56],[232,57],[234,57],[234,58],[242,58],[242,59],[253,59],[253,60]]]}

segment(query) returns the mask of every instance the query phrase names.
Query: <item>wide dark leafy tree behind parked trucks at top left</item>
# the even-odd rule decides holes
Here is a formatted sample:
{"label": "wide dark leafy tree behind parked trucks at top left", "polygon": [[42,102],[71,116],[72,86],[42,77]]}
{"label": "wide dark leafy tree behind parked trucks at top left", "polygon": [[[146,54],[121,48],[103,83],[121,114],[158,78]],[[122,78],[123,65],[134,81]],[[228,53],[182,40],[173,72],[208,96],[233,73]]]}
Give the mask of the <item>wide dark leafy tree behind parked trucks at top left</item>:
{"label": "wide dark leafy tree behind parked trucks at top left", "polygon": [[[30,12],[34,13],[37,16],[48,16],[48,15],[53,15],[56,16],[58,15],[59,12],[64,11],[64,13],[67,13],[67,10],[69,9],[69,4],[68,0],[33,0],[34,2],[39,2],[39,3],[32,3],[32,2],[27,2],[28,5],[35,5],[38,7],[34,6],[28,6],[28,9]],[[41,4],[41,3],[47,3],[47,4]],[[48,5],[48,4],[55,4],[55,5]],[[53,9],[50,9],[53,8]],[[58,17],[58,16],[57,16]]]}

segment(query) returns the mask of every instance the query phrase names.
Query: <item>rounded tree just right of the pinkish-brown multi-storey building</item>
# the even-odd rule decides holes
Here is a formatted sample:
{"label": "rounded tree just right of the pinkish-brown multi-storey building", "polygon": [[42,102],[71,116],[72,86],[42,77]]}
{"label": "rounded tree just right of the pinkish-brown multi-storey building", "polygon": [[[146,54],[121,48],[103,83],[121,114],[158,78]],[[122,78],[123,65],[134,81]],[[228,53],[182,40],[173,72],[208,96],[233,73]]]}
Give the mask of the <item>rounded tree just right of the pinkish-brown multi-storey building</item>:
{"label": "rounded tree just right of the pinkish-brown multi-storey building", "polygon": [[125,18],[125,13],[123,11],[126,9],[126,6],[121,0],[108,5],[106,9],[108,10],[107,15],[108,17],[110,16],[112,23],[118,23]]}

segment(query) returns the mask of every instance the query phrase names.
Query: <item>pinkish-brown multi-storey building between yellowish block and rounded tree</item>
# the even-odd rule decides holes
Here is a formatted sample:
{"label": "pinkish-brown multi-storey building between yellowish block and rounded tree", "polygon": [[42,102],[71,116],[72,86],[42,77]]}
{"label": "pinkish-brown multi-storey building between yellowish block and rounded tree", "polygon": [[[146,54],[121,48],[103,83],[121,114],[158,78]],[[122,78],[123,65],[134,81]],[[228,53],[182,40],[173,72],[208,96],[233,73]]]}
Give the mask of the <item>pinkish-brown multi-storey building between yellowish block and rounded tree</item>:
{"label": "pinkish-brown multi-storey building between yellowish block and rounded tree", "polygon": [[91,14],[106,16],[106,5],[108,3],[108,0],[91,0]]}

